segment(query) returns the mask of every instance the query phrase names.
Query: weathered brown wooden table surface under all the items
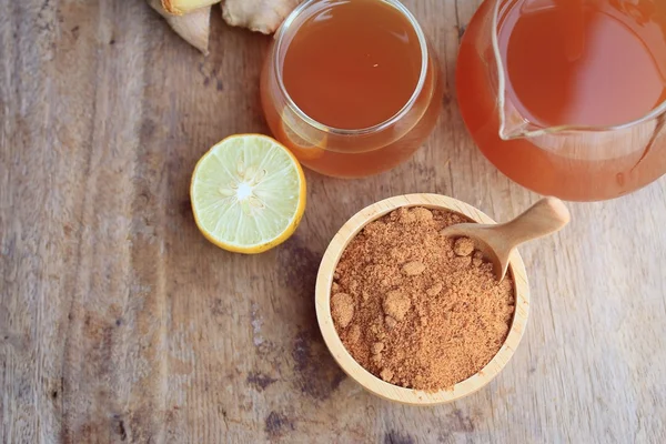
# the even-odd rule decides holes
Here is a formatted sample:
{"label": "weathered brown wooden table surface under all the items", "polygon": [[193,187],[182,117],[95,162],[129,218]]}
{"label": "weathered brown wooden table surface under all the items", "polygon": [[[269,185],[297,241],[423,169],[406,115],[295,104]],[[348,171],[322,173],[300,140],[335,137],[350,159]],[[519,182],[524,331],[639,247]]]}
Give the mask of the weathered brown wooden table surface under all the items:
{"label": "weathered brown wooden table surface under all the items", "polygon": [[467,135],[454,65],[478,1],[405,2],[448,93],[413,160],[307,173],[296,234],[258,256],[208,243],[189,183],[223,137],[266,132],[269,38],[213,19],[211,56],[143,1],[0,0],[1,443],[663,443],[666,180],[572,204],[522,249],[528,327],[486,389],[415,408],[363,392],[321,340],[320,258],[354,212],[436,192],[497,220],[538,196]]}

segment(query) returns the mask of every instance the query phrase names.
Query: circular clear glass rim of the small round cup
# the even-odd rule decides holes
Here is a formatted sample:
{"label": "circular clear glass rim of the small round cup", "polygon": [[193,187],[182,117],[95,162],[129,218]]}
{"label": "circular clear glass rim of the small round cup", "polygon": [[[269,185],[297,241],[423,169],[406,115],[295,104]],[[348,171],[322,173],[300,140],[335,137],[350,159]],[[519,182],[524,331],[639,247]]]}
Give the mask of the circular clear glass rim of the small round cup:
{"label": "circular clear glass rim of the small round cup", "polygon": [[[272,59],[272,64],[273,64],[273,71],[275,72],[275,79],[278,82],[278,87],[280,88],[280,93],[283,94],[283,97],[286,101],[286,105],[291,109],[292,112],[294,112],[296,114],[296,117],[299,117],[301,120],[303,120],[309,125],[311,125],[322,132],[332,133],[332,134],[336,134],[336,135],[365,135],[365,134],[371,134],[371,133],[375,133],[375,132],[385,130],[386,128],[396,123],[397,121],[400,121],[407,114],[407,112],[416,103],[418,95],[421,94],[421,92],[423,91],[423,88],[425,87],[425,80],[427,79],[427,72],[430,69],[430,54],[428,54],[427,40],[425,38],[425,33],[421,29],[421,24],[418,24],[418,21],[416,21],[416,18],[412,14],[412,12],[404,4],[402,4],[398,0],[376,0],[376,1],[387,3],[392,7],[394,7],[395,9],[397,9],[410,21],[410,24],[414,29],[414,32],[416,32],[416,37],[418,38],[418,47],[421,48],[421,73],[418,75],[418,82],[416,83],[416,87],[414,88],[414,92],[410,97],[410,100],[407,100],[407,102],[395,114],[393,114],[391,118],[386,119],[385,121],[376,123],[372,127],[359,128],[359,129],[343,129],[343,128],[330,127],[330,125],[321,123],[317,120],[307,115],[293,101],[293,99],[286,91],[286,87],[284,85],[284,81],[282,79],[282,62],[281,62],[281,57],[280,57],[280,54],[283,51],[283,46],[285,44],[284,39],[286,36],[289,36],[289,31],[291,31],[291,29],[294,27],[294,22],[295,22],[296,18],[299,16],[301,16],[309,7],[311,7],[312,3],[317,2],[317,1],[321,1],[321,0],[306,0],[306,1],[302,2],[301,4],[299,4],[286,17],[286,19],[284,19],[284,21],[280,26],[280,29],[275,32],[275,36],[274,36],[275,46],[273,47],[271,59]],[[297,31],[297,29],[296,29],[296,31]],[[284,48],[284,50],[286,50],[286,48]]]}

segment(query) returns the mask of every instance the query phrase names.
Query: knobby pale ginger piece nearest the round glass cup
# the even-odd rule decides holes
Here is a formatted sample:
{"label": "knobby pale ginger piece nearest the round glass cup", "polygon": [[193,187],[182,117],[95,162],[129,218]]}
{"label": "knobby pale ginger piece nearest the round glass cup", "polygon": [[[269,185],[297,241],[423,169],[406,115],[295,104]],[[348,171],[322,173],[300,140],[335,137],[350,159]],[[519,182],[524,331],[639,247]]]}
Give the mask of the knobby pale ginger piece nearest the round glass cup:
{"label": "knobby pale ginger piece nearest the round glass cup", "polygon": [[224,21],[264,34],[275,32],[284,18],[301,0],[226,0],[222,4]]}

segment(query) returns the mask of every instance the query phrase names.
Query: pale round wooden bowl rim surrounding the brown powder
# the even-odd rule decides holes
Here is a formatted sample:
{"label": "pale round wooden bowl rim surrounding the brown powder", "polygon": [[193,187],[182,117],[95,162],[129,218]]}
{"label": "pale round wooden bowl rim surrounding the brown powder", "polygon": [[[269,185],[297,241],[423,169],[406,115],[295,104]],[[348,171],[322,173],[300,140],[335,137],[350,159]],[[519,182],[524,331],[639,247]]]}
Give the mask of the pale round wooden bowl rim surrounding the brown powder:
{"label": "pale round wooden bowl rim surrounding the brown powder", "polygon": [[359,364],[344,347],[331,316],[331,285],[333,273],[342,253],[350,241],[370,222],[401,206],[424,206],[433,210],[448,210],[462,214],[478,223],[496,223],[482,211],[458,200],[438,194],[407,194],[390,198],[374,203],[350,219],[340,229],[324,253],[316,278],[315,306],[322,335],[331,354],[342,370],[361,384],[365,390],[377,396],[412,405],[435,405],[460,400],[490,383],[504,369],[516,350],[529,311],[529,286],[525,273],[525,264],[517,252],[511,256],[509,271],[514,280],[516,296],[514,317],[511,330],[500,352],[478,373],[458,382],[450,390],[427,393],[420,390],[404,389],[390,384],[374,376]]}

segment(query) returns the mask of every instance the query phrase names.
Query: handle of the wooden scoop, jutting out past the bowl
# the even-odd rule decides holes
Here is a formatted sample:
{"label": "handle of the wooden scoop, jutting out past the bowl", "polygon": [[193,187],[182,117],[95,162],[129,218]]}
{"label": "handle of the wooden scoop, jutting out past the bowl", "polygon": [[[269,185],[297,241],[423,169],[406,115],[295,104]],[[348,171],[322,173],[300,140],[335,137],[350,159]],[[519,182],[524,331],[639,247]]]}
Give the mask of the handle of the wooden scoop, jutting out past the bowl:
{"label": "handle of the wooden scoop, jutting out past the bowl", "polygon": [[557,198],[544,198],[513,221],[497,225],[505,245],[511,249],[533,239],[562,230],[571,220],[564,203]]}

